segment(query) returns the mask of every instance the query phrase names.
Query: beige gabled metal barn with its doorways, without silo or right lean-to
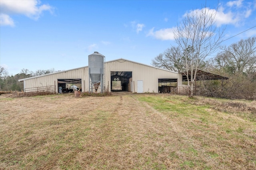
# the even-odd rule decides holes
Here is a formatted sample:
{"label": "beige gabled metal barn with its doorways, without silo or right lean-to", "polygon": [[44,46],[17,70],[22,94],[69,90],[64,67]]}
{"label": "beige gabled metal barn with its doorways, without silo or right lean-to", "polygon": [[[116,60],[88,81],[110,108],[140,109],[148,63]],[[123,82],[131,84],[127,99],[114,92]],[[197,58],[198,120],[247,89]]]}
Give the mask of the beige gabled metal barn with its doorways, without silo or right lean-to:
{"label": "beige gabled metal barn with its doorways, without silo or right lean-to", "polygon": [[[92,55],[100,54],[94,52]],[[102,76],[101,82],[103,83],[101,84],[103,84],[102,87],[109,92],[111,90],[119,89],[133,93],[158,93],[159,80],[182,82],[182,76],[178,72],[136,63],[126,59],[104,62],[103,70],[104,72],[102,75],[104,76]],[[76,87],[82,92],[90,92],[89,72],[90,67],[85,66],[24,78],[19,81],[24,82],[24,92],[36,91],[38,88],[43,87],[54,87],[54,92],[58,92],[60,87],[63,92],[70,91],[70,89],[71,91],[75,90],[73,87]],[[99,86],[97,88],[100,89],[102,87]],[[93,88],[91,92],[100,92],[100,90],[97,91],[97,88]]]}

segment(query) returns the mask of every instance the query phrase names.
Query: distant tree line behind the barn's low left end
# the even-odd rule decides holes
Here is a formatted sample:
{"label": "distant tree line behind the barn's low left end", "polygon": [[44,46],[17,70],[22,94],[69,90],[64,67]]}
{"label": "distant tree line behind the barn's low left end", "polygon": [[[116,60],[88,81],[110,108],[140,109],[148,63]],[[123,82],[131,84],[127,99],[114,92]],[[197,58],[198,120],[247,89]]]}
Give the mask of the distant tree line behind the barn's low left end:
{"label": "distant tree line behind the barn's low left end", "polygon": [[18,80],[23,78],[40,76],[43,74],[49,74],[52,72],[56,72],[54,68],[36,71],[30,71],[23,68],[20,73],[13,76],[9,75],[7,70],[4,67],[0,66],[0,91],[22,91],[24,89],[24,84],[23,82],[19,82]]}

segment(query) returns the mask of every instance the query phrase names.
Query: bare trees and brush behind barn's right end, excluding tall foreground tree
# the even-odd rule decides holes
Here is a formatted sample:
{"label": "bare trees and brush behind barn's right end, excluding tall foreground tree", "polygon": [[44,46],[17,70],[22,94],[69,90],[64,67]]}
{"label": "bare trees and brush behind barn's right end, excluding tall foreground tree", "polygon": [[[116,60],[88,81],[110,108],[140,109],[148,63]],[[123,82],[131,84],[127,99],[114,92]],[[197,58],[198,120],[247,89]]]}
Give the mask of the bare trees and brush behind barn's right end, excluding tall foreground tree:
{"label": "bare trees and brush behind barn's right end, excluding tall foreground tree", "polygon": [[[200,82],[204,96],[256,99],[256,37],[241,39],[228,47],[222,46],[216,56],[198,63],[197,69],[229,77],[228,80]],[[155,57],[152,65],[182,72],[186,70],[184,52],[179,46],[170,47]]]}

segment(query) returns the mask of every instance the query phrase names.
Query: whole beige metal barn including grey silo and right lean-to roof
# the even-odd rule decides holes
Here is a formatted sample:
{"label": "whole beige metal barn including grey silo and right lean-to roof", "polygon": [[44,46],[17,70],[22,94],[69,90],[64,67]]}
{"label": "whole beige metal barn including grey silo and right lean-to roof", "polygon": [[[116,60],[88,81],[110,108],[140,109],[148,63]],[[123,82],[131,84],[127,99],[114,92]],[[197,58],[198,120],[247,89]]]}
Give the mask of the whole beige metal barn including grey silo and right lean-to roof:
{"label": "whole beige metal barn including grey silo and right lean-to roof", "polygon": [[[104,92],[123,90],[132,93],[187,92],[184,73],[174,72],[126,59],[105,62],[98,52],[88,56],[88,66],[24,78],[24,92]],[[228,77],[198,70],[196,80],[225,80]],[[170,86],[176,82],[175,86]],[[169,83],[169,84],[168,84]],[[159,86],[159,84],[161,84]],[[166,86],[162,86],[162,84]],[[199,87],[198,87],[199,88]],[[184,90],[185,89],[185,90]],[[194,87],[197,91],[197,87]],[[200,90],[198,90],[200,91]]]}

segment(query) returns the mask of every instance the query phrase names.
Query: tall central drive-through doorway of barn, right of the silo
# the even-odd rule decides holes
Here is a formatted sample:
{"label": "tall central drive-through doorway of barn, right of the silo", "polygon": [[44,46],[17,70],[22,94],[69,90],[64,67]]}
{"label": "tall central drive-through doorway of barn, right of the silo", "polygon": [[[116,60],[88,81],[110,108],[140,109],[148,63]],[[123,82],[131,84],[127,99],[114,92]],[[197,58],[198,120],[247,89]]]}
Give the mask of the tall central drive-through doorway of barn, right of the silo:
{"label": "tall central drive-through doorway of barn, right of the silo", "polygon": [[133,92],[131,71],[111,71],[111,91]]}

